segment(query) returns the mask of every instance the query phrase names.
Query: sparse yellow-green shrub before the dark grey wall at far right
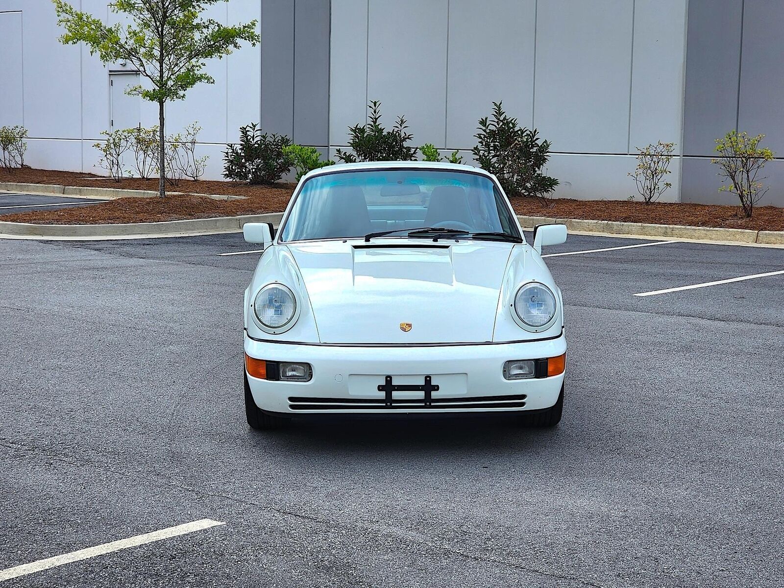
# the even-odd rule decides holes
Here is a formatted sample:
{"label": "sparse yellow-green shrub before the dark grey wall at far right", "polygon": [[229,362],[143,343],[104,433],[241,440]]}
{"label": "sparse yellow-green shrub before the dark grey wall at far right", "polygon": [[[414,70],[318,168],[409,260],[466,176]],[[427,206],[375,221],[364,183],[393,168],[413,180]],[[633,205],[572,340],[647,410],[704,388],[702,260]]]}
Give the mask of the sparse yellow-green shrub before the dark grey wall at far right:
{"label": "sparse yellow-green shrub before the dark grey wall at far right", "polygon": [[764,135],[750,136],[747,132],[730,131],[723,138],[716,140],[716,151],[719,157],[710,160],[719,166],[721,183],[729,180],[719,191],[731,192],[740,199],[743,216],[749,218],[754,205],[768,191],[759,177],[765,162],[773,159],[773,151],[768,147],[760,148]]}

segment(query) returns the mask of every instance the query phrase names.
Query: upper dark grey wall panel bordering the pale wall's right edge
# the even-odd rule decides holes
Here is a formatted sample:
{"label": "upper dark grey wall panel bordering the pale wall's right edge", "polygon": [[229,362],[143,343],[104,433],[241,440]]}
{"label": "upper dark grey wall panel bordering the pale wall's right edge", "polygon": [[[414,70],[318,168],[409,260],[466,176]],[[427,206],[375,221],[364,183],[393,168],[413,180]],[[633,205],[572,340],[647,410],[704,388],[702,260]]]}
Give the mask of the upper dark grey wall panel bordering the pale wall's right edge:
{"label": "upper dark grey wall panel bordering the pale wall's right edge", "polygon": [[741,13],[741,0],[689,0],[683,146],[686,155],[713,154],[715,140],[735,129]]}

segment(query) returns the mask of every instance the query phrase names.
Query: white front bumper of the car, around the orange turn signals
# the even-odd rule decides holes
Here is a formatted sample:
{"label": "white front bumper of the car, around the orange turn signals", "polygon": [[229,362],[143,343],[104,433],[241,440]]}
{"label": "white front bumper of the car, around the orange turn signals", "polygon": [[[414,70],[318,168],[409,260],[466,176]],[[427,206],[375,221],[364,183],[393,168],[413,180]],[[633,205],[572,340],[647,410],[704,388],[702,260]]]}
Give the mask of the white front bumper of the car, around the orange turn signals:
{"label": "white front bumper of the car, around the orange turn signals", "polygon": [[[513,359],[552,358],[566,352],[557,339],[527,343],[445,345],[438,347],[341,347],[267,343],[245,333],[245,354],[266,361],[307,361],[309,382],[281,382],[248,377],[256,406],[287,416],[313,414],[409,414],[448,412],[516,412],[554,405],[564,374],[539,379],[507,380],[503,364]],[[423,391],[382,391],[391,383]],[[392,403],[390,405],[390,394]]]}

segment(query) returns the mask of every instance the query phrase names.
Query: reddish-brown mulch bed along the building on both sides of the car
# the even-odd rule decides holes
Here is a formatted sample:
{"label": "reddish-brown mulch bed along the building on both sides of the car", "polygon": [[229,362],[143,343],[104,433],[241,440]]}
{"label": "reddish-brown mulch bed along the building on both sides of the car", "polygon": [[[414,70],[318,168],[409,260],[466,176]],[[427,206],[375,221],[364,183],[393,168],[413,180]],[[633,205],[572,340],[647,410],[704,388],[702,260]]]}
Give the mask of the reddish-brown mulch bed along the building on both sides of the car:
{"label": "reddish-brown mulch bed along the building on both sides of the car", "polygon": [[[0,169],[0,182],[54,183],[66,186],[119,187],[129,190],[158,190],[158,180],[125,178],[120,183],[85,173],[45,169]],[[0,220],[39,224],[148,223],[165,220],[209,218],[281,212],[291,198],[293,184],[249,186],[245,183],[182,180],[168,190],[185,195],[166,198],[118,198],[89,206],[49,211],[0,215]],[[246,196],[245,200],[212,200],[191,194]],[[763,206],[750,219],[739,218],[736,206],[701,205],[615,200],[555,199],[550,206],[528,198],[513,198],[517,214],[586,220],[616,220],[630,223],[680,224],[693,227],[726,227],[750,230],[784,230],[784,208]]]}

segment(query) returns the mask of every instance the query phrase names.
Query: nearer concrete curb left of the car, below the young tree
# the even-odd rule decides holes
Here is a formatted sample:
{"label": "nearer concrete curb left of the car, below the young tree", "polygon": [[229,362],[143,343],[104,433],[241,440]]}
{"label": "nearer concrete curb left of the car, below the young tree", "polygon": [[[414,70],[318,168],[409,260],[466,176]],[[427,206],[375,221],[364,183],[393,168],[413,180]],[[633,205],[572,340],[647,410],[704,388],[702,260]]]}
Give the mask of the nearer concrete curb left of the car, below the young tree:
{"label": "nearer concrete curb left of the car, below the young tree", "polygon": [[0,238],[100,241],[156,237],[190,237],[200,234],[237,233],[245,223],[281,222],[281,212],[212,219],[170,220],[163,223],[128,224],[28,224],[0,221]]}

